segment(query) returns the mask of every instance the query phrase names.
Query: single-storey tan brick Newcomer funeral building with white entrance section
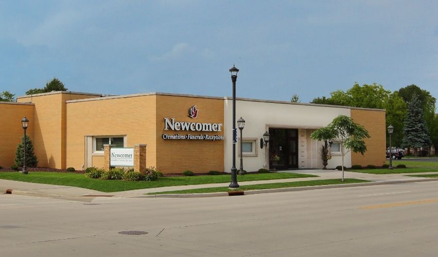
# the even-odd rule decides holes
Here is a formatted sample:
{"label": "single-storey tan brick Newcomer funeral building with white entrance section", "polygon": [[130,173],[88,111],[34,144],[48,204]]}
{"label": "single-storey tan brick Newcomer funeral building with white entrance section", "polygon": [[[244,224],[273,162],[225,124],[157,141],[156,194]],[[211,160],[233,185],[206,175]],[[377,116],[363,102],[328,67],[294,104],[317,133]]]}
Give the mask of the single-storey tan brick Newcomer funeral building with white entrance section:
{"label": "single-storey tan brick Newcomer funeral building with white entrance section", "polygon": [[[352,117],[371,134],[366,154],[348,154],[346,166],[381,166],[385,161],[384,110],[255,99],[237,99],[236,109],[236,115],[246,120],[239,141],[247,171],[272,168],[272,151],[281,155],[278,168],[322,168],[321,143],[309,135],[338,115]],[[3,167],[13,164],[23,135],[21,119],[26,116],[39,167],[103,167],[104,144],[117,148],[141,144],[147,145],[147,167],[163,173],[231,169],[232,101],[226,97],[165,93],[102,97],[59,91],[18,97],[17,103],[0,102],[0,113]],[[268,149],[260,149],[265,131],[272,133],[272,142]],[[340,164],[339,154],[335,151],[333,156],[329,168]]]}

